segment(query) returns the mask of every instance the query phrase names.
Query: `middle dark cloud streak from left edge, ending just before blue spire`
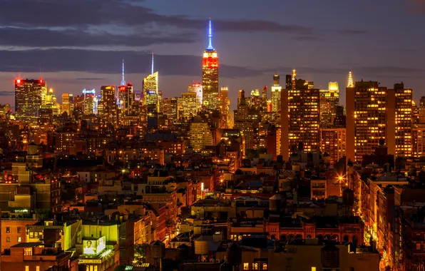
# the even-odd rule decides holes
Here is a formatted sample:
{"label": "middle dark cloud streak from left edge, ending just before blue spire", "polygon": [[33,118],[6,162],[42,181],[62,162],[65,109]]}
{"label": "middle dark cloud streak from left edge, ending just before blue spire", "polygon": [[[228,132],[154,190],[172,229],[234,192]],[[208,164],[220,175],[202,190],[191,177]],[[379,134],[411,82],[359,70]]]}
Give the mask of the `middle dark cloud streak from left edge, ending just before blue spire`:
{"label": "middle dark cloud streak from left edge, ending just before blue spire", "polygon": [[81,29],[58,31],[51,29],[0,28],[1,46],[64,47],[64,46],[149,46],[152,44],[181,44],[197,41],[193,34],[118,35],[106,31],[89,34]]}

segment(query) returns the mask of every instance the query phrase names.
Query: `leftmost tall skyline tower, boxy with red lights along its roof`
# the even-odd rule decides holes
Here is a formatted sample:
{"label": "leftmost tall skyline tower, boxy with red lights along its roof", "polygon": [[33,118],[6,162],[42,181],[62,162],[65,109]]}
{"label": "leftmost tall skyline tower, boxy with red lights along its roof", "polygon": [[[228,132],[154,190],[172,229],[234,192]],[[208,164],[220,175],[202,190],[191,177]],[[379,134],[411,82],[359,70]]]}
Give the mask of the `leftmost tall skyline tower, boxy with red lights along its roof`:
{"label": "leftmost tall skyline tower, boxy with red lights along its roof", "polygon": [[27,123],[37,123],[41,106],[41,93],[46,88],[43,79],[15,80],[16,119]]}

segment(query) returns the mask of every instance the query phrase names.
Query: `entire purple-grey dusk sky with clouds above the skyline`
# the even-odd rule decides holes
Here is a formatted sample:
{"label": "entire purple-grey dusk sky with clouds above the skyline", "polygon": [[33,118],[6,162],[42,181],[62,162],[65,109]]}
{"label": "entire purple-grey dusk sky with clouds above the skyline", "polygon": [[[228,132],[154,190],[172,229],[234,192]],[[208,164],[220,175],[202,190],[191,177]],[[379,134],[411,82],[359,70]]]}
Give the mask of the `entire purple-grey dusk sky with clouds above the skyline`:
{"label": "entire purple-grey dusk sky with clouds above the skyline", "polygon": [[[39,78],[61,93],[118,85],[141,89],[155,53],[164,97],[201,81],[208,18],[231,107],[237,89],[272,84],[277,71],[327,88],[344,103],[347,73],[425,95],[424,0],[1,0],[0,103],[14,104],[14,79]],[[270,93],[269,93],[270,96]]]}

